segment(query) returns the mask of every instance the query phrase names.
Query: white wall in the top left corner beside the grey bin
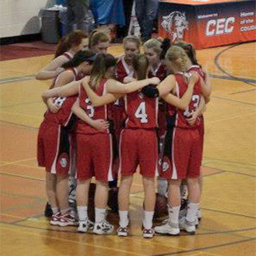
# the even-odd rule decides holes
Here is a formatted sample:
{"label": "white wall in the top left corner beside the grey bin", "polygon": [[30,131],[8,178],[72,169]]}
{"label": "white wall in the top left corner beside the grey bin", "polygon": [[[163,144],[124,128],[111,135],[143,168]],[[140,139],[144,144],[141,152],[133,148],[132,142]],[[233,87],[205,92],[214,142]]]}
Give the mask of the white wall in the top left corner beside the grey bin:
{"label": "white wall in the top left corner beside the grey bin", "polygon": [[53,3],[54,0],[0,0],[0,38],[39,33],[39,10]]}

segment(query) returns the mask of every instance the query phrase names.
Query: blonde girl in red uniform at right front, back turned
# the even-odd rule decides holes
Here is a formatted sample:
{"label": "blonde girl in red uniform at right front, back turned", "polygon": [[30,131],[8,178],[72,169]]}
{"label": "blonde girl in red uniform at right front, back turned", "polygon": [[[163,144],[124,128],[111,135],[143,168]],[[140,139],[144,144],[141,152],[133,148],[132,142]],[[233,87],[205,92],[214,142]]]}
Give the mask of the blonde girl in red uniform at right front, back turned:
{"label": "blonde girl in red uniform at right front, back turned", "polygon": [[[167,50],[166,64],[175,72],[175,75],[168,76],[162,83],[157,86],[158,93],[165,94],[166,91],[173,91],[178,97],[182,97],[187,89],[187,80],[189,77],[187,71],[191,67],[184,49],[178,46],[171,46]],[[162,162],[161,175],[169,181],[168,186],[168,203],[169,203],[169,220],[164,225],[155,227],[157,233],[168,233],[178,235],[180,228],[178,225],[178,214],[181,204],[180,185],[181,179],[187,178],[189,189],[189,209],[187,216],[180,223],[181,229],[189,233],[195,233],[195,218],[199,207],[200,189],[200,163],[202,152],[200,147],[200,136],[197,127],[200,120],[197,118],[194,125],[190,125],[187,118],[193,112],[202,109],[204,99],[200,96],[200,80],[195,84],[193,89],[192,100],[189,108],[176,108],[173,116],[173,108],[170,106],[170,115],[175,117],[174,126],[170,124],[167,129],[165,140],[165,153]],[[174,128],[173,128],[174,127]]]}

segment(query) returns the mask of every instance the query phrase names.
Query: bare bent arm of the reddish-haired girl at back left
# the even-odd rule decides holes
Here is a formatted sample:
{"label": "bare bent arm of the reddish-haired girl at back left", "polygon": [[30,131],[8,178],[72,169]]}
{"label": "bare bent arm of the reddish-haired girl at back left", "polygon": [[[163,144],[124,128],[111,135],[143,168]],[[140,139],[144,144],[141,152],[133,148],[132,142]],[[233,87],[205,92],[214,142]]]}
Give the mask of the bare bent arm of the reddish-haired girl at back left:
{"label": "bare bent arm of the reddish-haired girl at back left", "polygon": [[59,56],[53,61],[50,61],[48,65],[43,67],[36,75],[36,79],[38,80],[48,80],[51,78],[55,78],[59,73],[61,73],[64,69],[61,67],[67,61],[65,56]]}

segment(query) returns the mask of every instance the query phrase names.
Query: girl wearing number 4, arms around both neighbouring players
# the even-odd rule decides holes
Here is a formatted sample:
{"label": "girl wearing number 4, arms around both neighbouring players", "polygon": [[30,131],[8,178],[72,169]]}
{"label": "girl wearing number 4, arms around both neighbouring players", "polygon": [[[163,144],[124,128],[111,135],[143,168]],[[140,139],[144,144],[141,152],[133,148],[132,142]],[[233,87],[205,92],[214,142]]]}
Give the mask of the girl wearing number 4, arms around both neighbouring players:
{"label": "girl wearing number 4, arms around both neighbouring players", "polygon": [[[137,70],[136,76],[138,76],[138,80],[145,78],[148,68],[146,56],[140,55],[135,57],[134,67]],[[151,79],[154,82],[159,82],[158,78]],[[127,86],[130,86],[130,84],[127,84]],[[104,105],[120,97],[120,95],[115,96],[115,94],[127,94],[127,86],[109,86],[108,92],[110,94],[105,95],[105,97],[99,97],[97,94],[94,94],[88,85],[86,86],[86,92],[94,105]],[[178,99],[171,94],[165,98],[181,108],[186,108],[192,96],[192,87],[193,84],[189,84],[187,94],[182,99]],[[112,98],[111,95],[113,95]],[[143,237],[152,238],[154,236],[154,230],[152,229],[155,203],[154,177],[157,171],[158,148],[156,135],[158,99],[144,97],[143,93],[137,90],[127,94],[124,100],[127,120],[125,122],[125,129],[121,132],[119,143],[121,184],[118,192],[120,217],[118,236],[127,236],[128,234],[129,191],[132,185],[133,173],[135,173],[138,165],[140,165],[140,173],[143,175],[143,185],[145,188]]]}

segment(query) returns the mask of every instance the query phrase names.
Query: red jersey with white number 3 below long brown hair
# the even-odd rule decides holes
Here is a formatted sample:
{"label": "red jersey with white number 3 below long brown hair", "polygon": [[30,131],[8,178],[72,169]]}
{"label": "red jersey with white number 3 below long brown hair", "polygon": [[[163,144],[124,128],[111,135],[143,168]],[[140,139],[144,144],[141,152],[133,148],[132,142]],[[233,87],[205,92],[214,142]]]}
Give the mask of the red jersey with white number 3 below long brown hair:
{"label": "red jersey with white number 3 below long brown hair", "polygon": [[[102,79],[99,83],[99,87],[97,88],[96,93],[99,96],[102,96],[106,93],[106,79]],[[94,107],[91,104],[91,100],[86,94],[86,90],[83,88],[83,85],[80,85],[80,93],[79,93],[79,104],[80,108],[83,108],[83,110],[86,111],[87,115],[94,120],[97,119],[104,119],[108,120],[108,116],[110,115],[110,110],[108,105],[103,105],[100,107]],[[76,132],[83,133],[83,134],[95,134],[99,133],[97,129],[94,127],[91,127],[86,122],[78,119],[77,125],[76,125]],[[105,130],[105,133],[109,133],[109,129]]]}

